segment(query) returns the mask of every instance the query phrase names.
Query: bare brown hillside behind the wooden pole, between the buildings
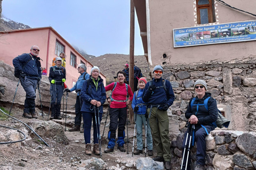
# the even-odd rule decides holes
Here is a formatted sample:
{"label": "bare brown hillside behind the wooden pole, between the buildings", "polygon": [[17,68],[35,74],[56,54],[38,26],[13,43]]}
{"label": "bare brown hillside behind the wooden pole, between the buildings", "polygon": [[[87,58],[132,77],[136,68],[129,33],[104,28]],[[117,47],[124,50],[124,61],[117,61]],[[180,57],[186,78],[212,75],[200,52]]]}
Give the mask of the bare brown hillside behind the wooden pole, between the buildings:
{"label": "bare brown hillside behind the wooden pole, between the buildings", "polygon": [[[107,77],[107,84],[114,82],[116,73],[124,69],[124,64],[129,64],[129,55],[125,54],[105,54],[99,57],[90,58],[90,63],[99,66],[100,72]],[[134,64],[137,65],[143,76],[149,78],[148,63],[145,56],[134,56]]]}

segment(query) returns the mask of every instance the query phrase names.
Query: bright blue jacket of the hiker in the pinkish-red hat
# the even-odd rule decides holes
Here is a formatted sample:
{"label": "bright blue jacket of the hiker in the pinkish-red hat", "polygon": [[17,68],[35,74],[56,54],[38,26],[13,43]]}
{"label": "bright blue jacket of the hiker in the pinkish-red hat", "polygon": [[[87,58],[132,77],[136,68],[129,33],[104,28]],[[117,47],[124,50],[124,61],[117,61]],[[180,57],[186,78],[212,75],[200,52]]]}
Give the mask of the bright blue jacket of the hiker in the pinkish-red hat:
{"label": "bright blue jacket of the hiker in the pinkish-red hat", "polygon": [[135,106],[139,106],[139,111],[136,113],[139,115],[145,115],[145,113],[147,112],[147,106],[145,102],[142,100],[143,92],[144,92],[144,89],[139,89],[137,97],[136,97],[136,92],[134,92],[133,99],[132,99],[132,109],[134,110]]}

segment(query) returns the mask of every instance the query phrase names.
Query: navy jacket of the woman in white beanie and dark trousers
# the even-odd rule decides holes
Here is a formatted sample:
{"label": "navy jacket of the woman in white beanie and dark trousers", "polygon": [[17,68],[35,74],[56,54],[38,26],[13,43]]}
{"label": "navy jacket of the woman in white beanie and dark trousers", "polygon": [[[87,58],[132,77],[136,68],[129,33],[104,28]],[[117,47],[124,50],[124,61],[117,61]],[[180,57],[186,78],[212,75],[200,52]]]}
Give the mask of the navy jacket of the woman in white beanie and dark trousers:
{"label": "navy jacket of the woman in white beanie and dark trousers", "polygon": [[[103,84],[103,79],[101,79],[101,77],[99,76],[97,90],[92,79],[93,78],[90,75],[90,78],[88,80],[85,80],[83,83],[83,87],[81,89],[81,97],[83,99],[81,112],[94,113],[93,105],[90,103],[91,100],[94,99],[94,100],[100,101],[101,103],[100,113],[103,113],[103,104],[105,103],[105,100],[106,100],[106,90]],[[89,83],[89,86],[87,86],[87,83]]]}

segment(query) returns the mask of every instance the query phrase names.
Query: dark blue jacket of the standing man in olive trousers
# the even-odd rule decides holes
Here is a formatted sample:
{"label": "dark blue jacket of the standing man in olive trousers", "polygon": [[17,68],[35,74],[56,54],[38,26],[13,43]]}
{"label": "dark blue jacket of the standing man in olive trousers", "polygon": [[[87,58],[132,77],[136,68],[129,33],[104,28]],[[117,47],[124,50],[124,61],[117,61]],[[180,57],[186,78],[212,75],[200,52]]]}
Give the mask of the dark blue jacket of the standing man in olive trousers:
{"label": "dark blue jacket of the standing man in olive trousers", "polygon": [[[158,107],[158,109],[163,110],[163,106],[165,104],[168,104],[168,106],[170,107],[173,104],[173,101],[175,99],[173,90],[172,90],[172,85],[170,83],[170,81],[168,80],[164,80],[165,81],[165,87],[167,89],[167,91],[165,92],[164,88],[156,88],[154,89],[153,93],[149,91],[148,87],[149,87],[149,82],[147,82],[146,87],[145,87],[145,91],[143,93],[143,101],[145,101],[145,103],[147,103],[147,106],[149,105],[160,105]],[[160,79],[153,79],[151,85],[155,85],[156,87],[161,87],[163,86],[163,79],[162,77]]]}

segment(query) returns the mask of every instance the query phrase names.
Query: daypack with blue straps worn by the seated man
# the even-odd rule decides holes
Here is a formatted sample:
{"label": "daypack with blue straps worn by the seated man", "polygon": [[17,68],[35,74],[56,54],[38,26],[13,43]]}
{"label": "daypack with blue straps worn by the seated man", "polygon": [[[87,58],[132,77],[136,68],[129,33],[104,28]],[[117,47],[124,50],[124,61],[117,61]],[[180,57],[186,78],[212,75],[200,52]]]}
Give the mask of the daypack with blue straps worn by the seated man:
{"label": "daypack with blue straps worn by the seated man", "polygon": [[[209,99],[210,99],[211,97],[207,97],[205,100],[204,100],[204,104],[194,104],[195,103],[195,100],[196,100],[196,98],[194,97],[192,100],[191,100],[191,104],[190,104],[190,106],[191,106],[191,108],[192,108],[192,106],[197,106],[197,111],[198,111],[198,107],[199,106],[204,106],[205,108],[206,108],[206,110],[208,111],[208,101],[209,101]],[[215,100],[215,99],[214,99]],[[229,120],[227,120],[227,118],[226,117],[224,117],[222,114],[221,114],[221,112],[220,112],[220,110],[218,109],[218,118],[217,118],[217,121],[215,121],[215,122],[213,122],[213,126],[214,126],[214,128],[228,128],[228,126],[229,126],[229,123],[230,123],[230,121]],[[204,129],[205,129],[205,127],[203,126],[203,125],[201,125]],[[206,131],[206,133],[208,134],[208,132],[207,132],[207,130],[205,129],[205,131]]]}

